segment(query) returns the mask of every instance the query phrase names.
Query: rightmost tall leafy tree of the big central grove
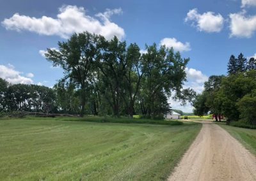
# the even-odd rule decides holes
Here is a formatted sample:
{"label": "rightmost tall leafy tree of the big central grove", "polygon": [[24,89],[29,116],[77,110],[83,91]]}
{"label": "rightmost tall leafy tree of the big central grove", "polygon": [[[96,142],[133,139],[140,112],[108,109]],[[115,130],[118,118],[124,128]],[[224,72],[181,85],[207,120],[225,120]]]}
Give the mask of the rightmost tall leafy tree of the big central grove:
{"label": "rightmost tall leafy tree of the big central grove", "polygon": [[[158,116],[158,110],[162,113],[171,112],[168,98],[175,91],[175,98],[186,100],[182,91],[182,83],[186,80],[185,68],[189,59],[182,59],[179,52],[174,53],[173,48],[161,46],[159,49],[154,43],[146,46],[147,53],[141,57],[143,78],[139,103],[141,113],[148,117]],[[162,104],[163,103],[163,104]]]}

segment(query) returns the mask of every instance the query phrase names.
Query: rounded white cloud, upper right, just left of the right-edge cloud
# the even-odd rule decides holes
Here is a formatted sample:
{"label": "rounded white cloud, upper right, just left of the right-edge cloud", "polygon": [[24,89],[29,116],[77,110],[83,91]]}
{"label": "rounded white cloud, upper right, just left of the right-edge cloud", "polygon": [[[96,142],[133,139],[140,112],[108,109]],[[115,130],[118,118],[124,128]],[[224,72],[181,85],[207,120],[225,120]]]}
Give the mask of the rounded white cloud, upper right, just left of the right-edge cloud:
{"label": "rounded white cloud, upper right, just left of the right-edge cloud", "polygon": [[192,22],[198,31],[207,33],[218,33],[223,29],[224,18],[219,14],[208,11],[200,14],[197,9],[189,10],[185,22]]}

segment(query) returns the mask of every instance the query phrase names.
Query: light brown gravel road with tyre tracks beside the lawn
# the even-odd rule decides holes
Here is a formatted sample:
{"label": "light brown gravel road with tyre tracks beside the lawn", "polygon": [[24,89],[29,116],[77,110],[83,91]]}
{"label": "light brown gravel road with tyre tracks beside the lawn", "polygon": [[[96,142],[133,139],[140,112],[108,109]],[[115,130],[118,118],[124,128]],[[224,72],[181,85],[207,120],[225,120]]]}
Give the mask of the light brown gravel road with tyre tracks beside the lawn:
{"label": "light brown gravel road with tyre tracks beside the lawn", "polygon": [[256,180],[256,158],[212,122],[203,127],[168,180]]}

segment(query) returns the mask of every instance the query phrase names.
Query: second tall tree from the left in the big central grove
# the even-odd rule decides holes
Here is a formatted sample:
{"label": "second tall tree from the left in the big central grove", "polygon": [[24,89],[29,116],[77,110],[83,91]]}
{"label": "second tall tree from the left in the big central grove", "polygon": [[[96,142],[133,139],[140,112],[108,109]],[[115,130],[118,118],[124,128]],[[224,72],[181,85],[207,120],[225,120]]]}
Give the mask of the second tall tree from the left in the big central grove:
{"label": "second tall tree from the left in the big central grove", "polygon": [[122,101],[122,89],[124,85],[124,75],[126,62],[126,43],[116,38],[100,41],[102,48],[97,67],[100,70],[102,87],[100,90],[113,109],[113,115],[118,116]]}

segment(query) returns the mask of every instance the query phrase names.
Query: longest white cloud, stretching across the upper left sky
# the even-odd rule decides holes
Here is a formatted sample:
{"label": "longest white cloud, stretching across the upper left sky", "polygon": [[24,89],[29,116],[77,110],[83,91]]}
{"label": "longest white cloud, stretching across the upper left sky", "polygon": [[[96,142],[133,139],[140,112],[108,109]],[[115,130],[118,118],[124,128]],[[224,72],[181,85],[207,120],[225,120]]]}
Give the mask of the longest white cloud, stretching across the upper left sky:
{"label": "longest white cloud, stretching across the upper left sky", "polygon": [[111,22],[111,15],[122,13],[122,9],[107,9],[104,13],[98,13],[95,17],[86,15],[83,7],[62,6],[56,18],[42,16],[40,18],[19,15],[15,13],[10,18],[5,18],[3,26],[8,30],[31,31],[44,35],[57,35],[68,38],[73,33],[101,34],[107,39],[117,36],[124,38],[125,32],[122,27]]}

